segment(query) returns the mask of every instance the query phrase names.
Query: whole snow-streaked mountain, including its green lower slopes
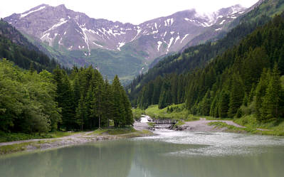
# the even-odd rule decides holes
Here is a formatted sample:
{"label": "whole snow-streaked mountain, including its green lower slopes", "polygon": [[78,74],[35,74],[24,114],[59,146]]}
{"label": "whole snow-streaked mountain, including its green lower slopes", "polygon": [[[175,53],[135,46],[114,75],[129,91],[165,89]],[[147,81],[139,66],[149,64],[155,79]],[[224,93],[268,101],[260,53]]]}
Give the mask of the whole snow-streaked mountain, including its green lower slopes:
{"label": "whole snow-streaked mountain, including its green lower slopes", "polygon": [[[245,11],[239,5],[212,14],[198,14],[191,9],[133,25],[90,18],[66,9],[64,5],[42,4],[4,20],[65,65],[93,64],[98,68],[109,68],[102,69],[102,73],[110,77],[112,73],[132,77],[147,70],[147,64],[154,58],[181,50],[205,31],[210,30],[212,34],[199,43],[218,35]],[[120,65],[126,63],[133,70],[120,74]]]}

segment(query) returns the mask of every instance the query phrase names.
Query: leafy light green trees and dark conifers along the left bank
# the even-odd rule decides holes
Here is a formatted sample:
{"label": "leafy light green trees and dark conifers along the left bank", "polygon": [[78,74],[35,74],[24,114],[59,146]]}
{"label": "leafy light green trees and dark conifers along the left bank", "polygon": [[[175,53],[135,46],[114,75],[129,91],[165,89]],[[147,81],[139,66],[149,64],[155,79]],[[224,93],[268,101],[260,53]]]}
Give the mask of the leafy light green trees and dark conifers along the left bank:
{"label": "leafy light green trees and dark conifers along the left bank", "polygon": [[130,101],[116,76],[110,85],[92,66],[70,75],[22,70],[0,60],[0,132],[94,129],[133,123]]}

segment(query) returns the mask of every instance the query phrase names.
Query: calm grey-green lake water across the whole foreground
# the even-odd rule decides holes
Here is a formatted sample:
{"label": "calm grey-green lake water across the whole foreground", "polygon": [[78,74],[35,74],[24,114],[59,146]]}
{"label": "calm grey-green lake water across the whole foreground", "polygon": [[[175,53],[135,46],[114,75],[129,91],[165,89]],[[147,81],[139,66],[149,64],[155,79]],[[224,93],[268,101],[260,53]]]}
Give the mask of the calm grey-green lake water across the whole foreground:
{"label": "calm grey-green lake water across the whole foreground", "polygon": [[284,139],[158,132],[151,137],[2,157],[0,176],[281,177]]}

